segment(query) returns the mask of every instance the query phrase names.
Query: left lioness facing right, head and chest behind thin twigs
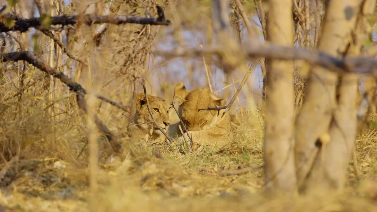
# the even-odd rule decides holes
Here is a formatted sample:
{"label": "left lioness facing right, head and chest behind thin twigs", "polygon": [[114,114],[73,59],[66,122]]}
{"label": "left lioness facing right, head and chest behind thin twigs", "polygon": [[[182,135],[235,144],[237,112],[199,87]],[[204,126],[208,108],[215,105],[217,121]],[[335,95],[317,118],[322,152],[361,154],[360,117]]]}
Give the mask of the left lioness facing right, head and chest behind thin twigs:
{"label": "left lioness facing right, head and chest behind thin twigs", "polygon": [[[167,130],[170,124],[169,109],[159,97],[148,95],[148,101],[153,117],[162,129]],[[156,139],[164,139],[164,134],[153,126],[152,117],[149,114],[144,93],[140,93],[136,97],[136,114],[131,124],[127,129],[127,134],[133,138],[144,138],[151,141]]]}

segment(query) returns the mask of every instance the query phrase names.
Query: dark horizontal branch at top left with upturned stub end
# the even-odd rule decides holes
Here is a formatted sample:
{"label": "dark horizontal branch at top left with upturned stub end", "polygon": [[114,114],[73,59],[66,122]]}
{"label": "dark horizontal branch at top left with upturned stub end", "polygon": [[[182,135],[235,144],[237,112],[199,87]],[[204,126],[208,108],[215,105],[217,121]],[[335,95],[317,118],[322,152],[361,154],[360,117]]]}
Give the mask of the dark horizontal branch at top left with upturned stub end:
{"label": "dark horizontal branch at top left with upturned stub end", "polygon": [[[146,18],[128,15],[95,15],[95,14],[85,14],[85,15],[70,15],[70,16],[54,16],[51,17],[51,25],[75,25],[78,22],[83,22],[84,24],[90,26],[92,24],[110,23],[110,24],[124,24],[124,23],[135,23],[143,25],[170,25],[170,20],[166,20],[164,16],[164,11],[160,6],[157,6],[158,18]],[[8,18],[15,20],[15,24],[12,27],[4,25],[0,22],[0,32],[8,31],[20,31],[26,32],[29,28],[39,28],[41,26],[41,18],[33,17],[24,19],[17,14],[6,13],[0,15],[2,18]]]}

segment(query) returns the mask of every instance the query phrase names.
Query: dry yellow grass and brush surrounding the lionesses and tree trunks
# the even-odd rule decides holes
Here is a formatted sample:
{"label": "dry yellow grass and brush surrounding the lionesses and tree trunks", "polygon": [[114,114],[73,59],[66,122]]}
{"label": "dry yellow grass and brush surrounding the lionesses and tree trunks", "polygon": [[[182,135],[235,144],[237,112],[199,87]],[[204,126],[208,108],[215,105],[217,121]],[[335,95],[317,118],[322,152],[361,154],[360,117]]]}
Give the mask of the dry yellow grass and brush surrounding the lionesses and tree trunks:
{"label": "dry yellow grass and brush surrounding the lionesses and tree trunks", "polygon": [[[165,61],[152,53],[153,49],[172,49],[178,45],[211,44],[211,1],[51,2],[18,1],[13,7],[9,6],[7,12],[30,18],[34,12],[39,14],[38,9],[50,13],[52,8],[53,15],[82,11],[101,15],[106,14],[111,4],[109,14],[157,17],[155,6],[160,5],[172,25],[109,24],[101,36],[96,34],[101,25],[81,24],[54,31],[68,51],[88,66],[68,57],[56,43],[51,54],[54,42],[43,30],[0,34],[2,53],[34,51],[36,57],[74,78],[89,93],[125,105],[127,111],[86,95],[92,111],[111,132],[120,135],[120,141],[129,144],[126,146],[130,149],[123,161],[106,163],[113,153],[107,138],[90,127],[90,118],[78,107],[75,94],[65,84],[51,80],[23,61],[3,62],[0,64],[0,212],[377,211],[377,112],[374,108],[367,120],[359,124],[356,158],[360,176],[354,170],[354,161],[350,160],[344,190],[320,197],[265,194],[263,88],[257,81],[257,71],[252,73],[233,104],[233,113],[241,114],[237,122],[242,124],[234,129],[234,141],[220,151],[199,147],[189,153],[182,146],[187,153],[182,155],[175,149],[157,146],[163,155],[161,159],[153,154],[155,146],[130,142],[122,136],[135,112],[133,99],[142,92],[141,77],[146,79],[149,94],[164,98],[167,104],[179,81],[188,85],[188,89],[208,87],[210,81],[213,91],[218,91],[216,95],[228,100],[239,86],[244,73],[235,70],[225,76],[211,57]],[[258,1],[241,2],[246,14],[251,15],[251,25],[260,23],[255,14]],[[268,9],[262,2],[262,7]],[[35,3],[40,8],[34,6]],[[5,2],[0,1],[0,6],[3,4]],[[231,5],[232,27],[239,40],[245,40],[247,30],[241,15],[234,13],[236,5],[233,2]],[[256,28],[261,33],[259,24]],[[305,46],[305,38],[296,36],[297,42]],[[294,65],[296,69],[305,69],[306,64]],[[251,64],[248,68],[254,69]],[[210,72],[209,80],[206,69]],[[260,70],[259,65],[255,70]],[[295,76],[297,110],[305,91],[302,75],[296,72]],[[362,95],[360,89],[360,98]],[[173,112],[170,114],[173,123],[178,120]],[[89,166],[89,152],[96,150],[89,149],[88,141],[98,144],[99,167],[95,173],[90,170],[93,166]],[[94,194],[90,187],[93,178]]]}

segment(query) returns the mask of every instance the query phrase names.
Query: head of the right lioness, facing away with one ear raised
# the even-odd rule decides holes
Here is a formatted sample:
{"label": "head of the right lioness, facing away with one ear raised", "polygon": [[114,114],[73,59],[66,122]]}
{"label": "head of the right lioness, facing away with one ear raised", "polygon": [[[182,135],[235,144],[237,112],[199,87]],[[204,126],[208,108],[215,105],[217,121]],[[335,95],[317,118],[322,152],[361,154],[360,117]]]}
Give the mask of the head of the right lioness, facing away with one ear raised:
{"label": "head of the right lioness, facing away with one ear raised", "polygon": [[206,88],[187,91],[182,83],[175,86],[174,95],[181,102],[178,114],[188,131],[210,129],[221,120],[221,111],[198,111],[199,109],[227,104],[226,100]]}

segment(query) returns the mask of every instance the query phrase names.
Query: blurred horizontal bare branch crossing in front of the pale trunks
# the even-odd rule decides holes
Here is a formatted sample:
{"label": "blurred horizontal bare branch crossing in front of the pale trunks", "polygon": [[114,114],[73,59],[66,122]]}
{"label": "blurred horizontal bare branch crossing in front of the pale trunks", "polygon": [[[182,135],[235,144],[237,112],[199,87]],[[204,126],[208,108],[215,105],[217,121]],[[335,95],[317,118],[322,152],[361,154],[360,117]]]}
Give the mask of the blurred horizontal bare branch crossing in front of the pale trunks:
{"label": "blurred horizontal bare branch crossing in front of the pale trunks", "polygon": [[[245,57],[265,57],[278,60],[305,60],[310,65],[318,65],[327,68],[330,71],[354,72],[358,74],[372,74],[377,69],[377,60],[372,57],[345,57],[336,58],[323,52],[303,49],[299,47],[280,46],[266,42],[252,43],[251,45],[243,45],[240,47],[240,55],[242,57],[242,50],[245,52]],[[173,51],[155,51],[156,54],[164,55],[165,57],[202,57],[203,55],[216,55],[222,57],[225,50],[217,47],[208,48],[176,48]]]}

